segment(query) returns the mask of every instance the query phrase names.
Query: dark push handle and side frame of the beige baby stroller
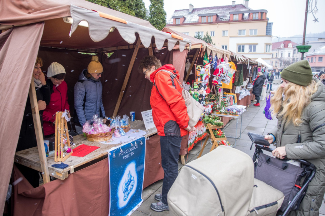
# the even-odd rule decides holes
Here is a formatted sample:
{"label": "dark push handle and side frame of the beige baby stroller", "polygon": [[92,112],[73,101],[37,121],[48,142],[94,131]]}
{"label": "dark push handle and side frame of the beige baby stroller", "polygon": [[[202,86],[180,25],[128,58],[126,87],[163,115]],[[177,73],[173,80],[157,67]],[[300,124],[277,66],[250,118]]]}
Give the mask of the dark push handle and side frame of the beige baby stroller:
{"label": "dark push handle and side frame of the beige baby stroller", "polygon": [[[274,149],[264,147],[263,145],[260,145],[260,144],[255,144],[255,153],[253,156],[254,162],[258,159],[259,154],[263,153],[262,150],[272,152]],[[280,216],[286,216],[289,214],[290,211],[297,210],[299,208],[300,202],[304,198],[306,191],[308,189],[308,184],[311,182],[311,180],[314,178],[314,176],[316,174],[316,168],[315,168],[314,164],[312,164],[308,161],[302,160],[302,159],[293,159],[293,160],[304,164],[305,170],[302,173],[302,175],[306,175],[306,178],[305,178],[303,185],[301,186],[301,189],[293,197],[293,199],[290,201],[288,207],[285,209],[285,211]]]}

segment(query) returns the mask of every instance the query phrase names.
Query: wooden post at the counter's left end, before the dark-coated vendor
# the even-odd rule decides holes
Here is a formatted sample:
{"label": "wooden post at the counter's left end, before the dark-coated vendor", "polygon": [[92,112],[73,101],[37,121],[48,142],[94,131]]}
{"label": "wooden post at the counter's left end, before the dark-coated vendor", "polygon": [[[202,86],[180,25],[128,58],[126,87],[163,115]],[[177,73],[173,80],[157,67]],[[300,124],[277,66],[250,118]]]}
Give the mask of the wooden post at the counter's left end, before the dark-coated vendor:
{"label": "wooden post at the counter's left end, before the dark-coated vendor", "polygon": [[35,90],[35,84],[34,84],[34,79],[33,78],[32,78],[32,81],[31,81],[30,88],[29,88],[29,98],[31,100],[32,114],[33,114],[33,121],[34,121],[34,128],[35,128],[35,135],[36,135],[36,141],[37,141],[37,149],[38,149],[38,154],[40,156],[41,169],[42,169],[43,180],[44,180],[44,184],[45,184],[47,182],[50,182],[50,175],[48,173],[48,166],[47,166],[47,159],[46,159],[46,155],[45,155],[43,132],[42,132],[42,126],[41,126],[41,119],[40,119],[40,114],[39,114],[39,111],[38,111],[36,90]]}

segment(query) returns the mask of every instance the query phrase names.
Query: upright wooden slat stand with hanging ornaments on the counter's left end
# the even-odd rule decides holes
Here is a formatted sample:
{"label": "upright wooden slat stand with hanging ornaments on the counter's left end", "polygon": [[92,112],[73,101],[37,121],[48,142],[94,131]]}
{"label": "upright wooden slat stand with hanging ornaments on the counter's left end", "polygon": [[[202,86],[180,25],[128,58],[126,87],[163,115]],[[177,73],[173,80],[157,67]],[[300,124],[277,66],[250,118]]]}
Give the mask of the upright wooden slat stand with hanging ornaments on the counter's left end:
{"label": "upright wooden slat stand with hanging ornaments on the counter's left end", "polygon": [[67,158],[72,155],[72,150],[70,153],[64,153],[64,139],[67,139],[67,146],[71,148],[69,131],[67,120],[62,117],[63,112],[57,112],[55,114],[55,142],[54,142],[54,161],[64,162]]}

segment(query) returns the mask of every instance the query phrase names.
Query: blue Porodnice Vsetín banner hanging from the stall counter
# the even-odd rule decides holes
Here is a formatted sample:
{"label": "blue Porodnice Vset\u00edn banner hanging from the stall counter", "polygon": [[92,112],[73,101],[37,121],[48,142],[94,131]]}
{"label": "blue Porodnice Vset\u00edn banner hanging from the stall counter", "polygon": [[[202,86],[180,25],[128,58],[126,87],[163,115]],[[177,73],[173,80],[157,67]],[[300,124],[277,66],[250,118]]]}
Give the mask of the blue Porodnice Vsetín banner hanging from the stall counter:
{"label": "blue Porodnice Vset\u00edn banner hanging from the stall counter", "polygon": [[109,151],[110,216],[129,215],[141,205],[145,155],[144,137]]}

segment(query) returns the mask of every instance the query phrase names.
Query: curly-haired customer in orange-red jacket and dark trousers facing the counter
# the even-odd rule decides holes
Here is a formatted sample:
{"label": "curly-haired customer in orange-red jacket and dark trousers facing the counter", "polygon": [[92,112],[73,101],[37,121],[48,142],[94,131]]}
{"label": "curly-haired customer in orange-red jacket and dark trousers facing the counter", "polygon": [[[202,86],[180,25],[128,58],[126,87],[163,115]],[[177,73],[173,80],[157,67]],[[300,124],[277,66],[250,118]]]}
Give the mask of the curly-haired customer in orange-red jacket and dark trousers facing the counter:
{"label": "curly-haired customer in orange-red jacket and dark trousers facing the counter", "polygon": [[[155,199],[159,202],[152,203],[150,207],[154,211],[164,211],[169,210],[167,193],[178,175],[177,161],[182,137],[196,128],[188,126],[189,117],[181,94],[182,89],[177,81],[179,73],[175,67],[162,66],[160,61],[151,55],[140,61],[139,70],[153,83],[150,105],[153,122],[160,136],[162,168],[165,174],[162,193],[155,195]],[[176,77],[161,70],[169,71]]]}

